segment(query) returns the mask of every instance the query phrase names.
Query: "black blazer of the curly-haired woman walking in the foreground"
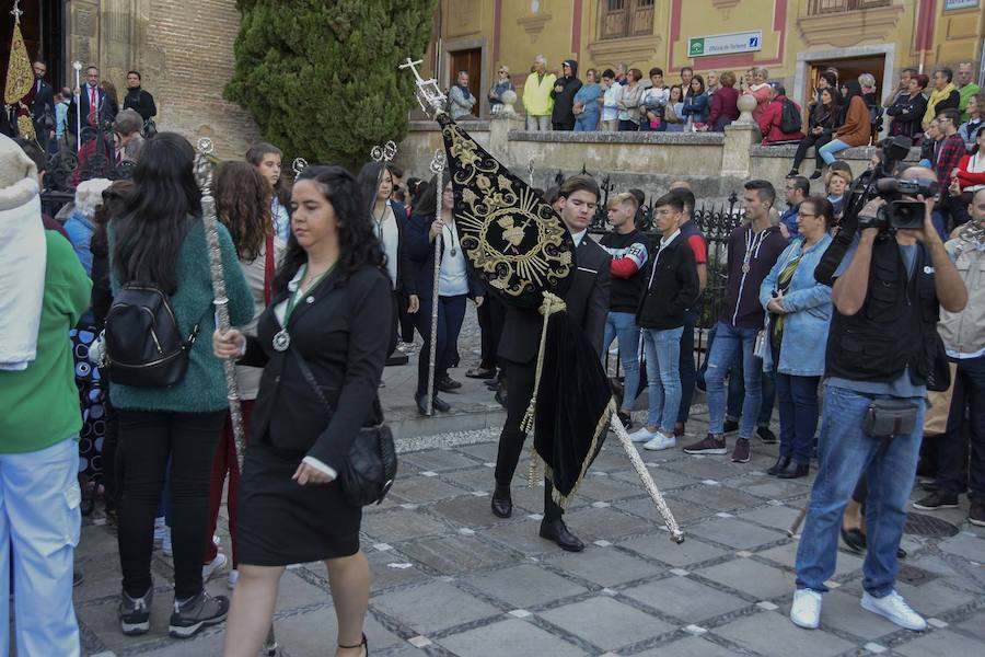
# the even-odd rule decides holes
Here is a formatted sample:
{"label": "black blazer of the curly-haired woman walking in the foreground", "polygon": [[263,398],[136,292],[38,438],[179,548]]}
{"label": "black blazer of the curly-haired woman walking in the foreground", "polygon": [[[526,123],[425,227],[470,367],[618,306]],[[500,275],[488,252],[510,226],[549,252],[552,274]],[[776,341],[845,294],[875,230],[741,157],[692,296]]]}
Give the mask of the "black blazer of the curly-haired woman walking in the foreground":
{"label": "black blazer of the curly-haired woman walking in the foreground", "polygon": [[[274,308],[264,311],[257,337],[246,341],[241,365],[263,367],[250,426],[251,440],[311,456],[340,471],[360,427],[383,419],[378,390],[393,341],[390,277],[364,266],[347,280],[333,272],[294,308],[288,321],[291,343],[274,349],[280,323]],[[300,353],[333,411],[318,401],[301,373]]]}

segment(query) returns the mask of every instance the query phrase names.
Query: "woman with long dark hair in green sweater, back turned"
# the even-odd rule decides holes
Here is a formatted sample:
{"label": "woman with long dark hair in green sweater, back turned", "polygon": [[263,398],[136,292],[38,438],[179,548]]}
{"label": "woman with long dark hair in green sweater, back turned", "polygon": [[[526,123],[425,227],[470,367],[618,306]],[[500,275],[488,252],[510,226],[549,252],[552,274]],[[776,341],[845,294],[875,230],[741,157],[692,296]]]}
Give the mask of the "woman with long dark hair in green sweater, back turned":
{"label": "woman with long dark hair in green sweater, back turned", "polygon": [[[134,192],[109,224],[109,265],[114,293],[125,283],[152,284],[169,296],[182,335],[193,335],[198,326],[198,335],[208,336],[216,321],[194,155],[192,145],[174,132],[161,132],[144,145],[134,171]],[[221,224],[217,228],[230,321],[245,324],[253,318],[253,296],[229,232]],[[210,597],[201,584],[209,475],[228,406],[222,364],[208,339],[197,339],[178,383],[114,383],[109,395],[119,416],[124,471],[120,630],[143,634],[150,629],[154,511],[170,459],[175,598],[170,633],[187,638],[224,620],[229,609],[227,598]]]}

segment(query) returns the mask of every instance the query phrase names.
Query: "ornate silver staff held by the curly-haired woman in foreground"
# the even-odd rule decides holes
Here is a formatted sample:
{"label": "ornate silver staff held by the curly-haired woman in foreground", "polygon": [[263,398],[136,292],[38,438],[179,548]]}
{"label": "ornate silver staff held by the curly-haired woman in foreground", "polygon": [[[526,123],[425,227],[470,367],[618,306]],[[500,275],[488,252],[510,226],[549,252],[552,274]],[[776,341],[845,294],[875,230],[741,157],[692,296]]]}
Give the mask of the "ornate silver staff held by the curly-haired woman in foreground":
{"label": "ornate silver staff held by the curly-haired woman in foreground", "polygon": [[[195,162],[195,178],[201,189],[201,217],[205,223],[206,242],[209,245],[209,268],[212,275],[212,304],[216,307],[216,327],[225,333],[230,328],[229,298],[225,296],[225,276],[222,273],[222,252],[219,249],[219,230],[216,227],[216,198],[212,196],[212,163],[209,157],[213,152],[212,140],[202,137],[198,140],[198,157]],[[222,361],[225,368],[225,389],[229,400],[229,414],[232,419],[233,439],[236,445],[236,462],[243,472],[243,457],[246,453],[246,440],[243,433],[243,414],[240,410],[240,387],[236,382],[236,366],[232,358]]]}

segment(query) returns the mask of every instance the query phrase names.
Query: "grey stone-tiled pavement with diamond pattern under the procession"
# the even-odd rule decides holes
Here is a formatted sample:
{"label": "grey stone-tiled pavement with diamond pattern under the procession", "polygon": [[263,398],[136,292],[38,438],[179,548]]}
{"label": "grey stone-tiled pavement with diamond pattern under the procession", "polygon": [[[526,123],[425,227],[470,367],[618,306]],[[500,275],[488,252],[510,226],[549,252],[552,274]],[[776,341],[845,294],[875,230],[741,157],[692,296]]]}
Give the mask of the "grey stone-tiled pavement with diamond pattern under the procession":
{"label": "grey stone-tiled pavement with diamond pattern under the procession", "polygon": [[[640,414],[637,414],[639,416]],[[705,429],[700,414],[688,426]],[[776,448],[754,443],[744,465],[680,450],[644,452],[686,532],[675,545],[610,435],[567,514],[586,540],[570,554],[537,538],[542,491],[528,489],[525,460],[513,486],[514,515],[489,511],[495,429],[432,437],[432,447],[402,454],[393,493],[367,509],[363,549],[372,573],[367,635],[384,657],[568,655],[861,655],[907,657],[985,653],[985,529],[966,508],[934,514],[953,535],[907,533],[899,589],[931,619],[912,633],[862,611],[861,560],[838,554],[822,627],[787,619],[796,540],[786,528],[809,482],[763,471]],[[912,515],[909,531],[927,533]],[[119,570],[115,534],[90,522],[76,590],[86,655],[218,655],[222,626],[195,639],[166,636],[171,561],[155,552],[152,631],[124,637],[116,625]],[[228,543],[224,519],[223,546]],[[228,593],[225,578],[208,585]],[[280,654],[332,655],[335,614],[324,567],[287,570],[277,603]]]}

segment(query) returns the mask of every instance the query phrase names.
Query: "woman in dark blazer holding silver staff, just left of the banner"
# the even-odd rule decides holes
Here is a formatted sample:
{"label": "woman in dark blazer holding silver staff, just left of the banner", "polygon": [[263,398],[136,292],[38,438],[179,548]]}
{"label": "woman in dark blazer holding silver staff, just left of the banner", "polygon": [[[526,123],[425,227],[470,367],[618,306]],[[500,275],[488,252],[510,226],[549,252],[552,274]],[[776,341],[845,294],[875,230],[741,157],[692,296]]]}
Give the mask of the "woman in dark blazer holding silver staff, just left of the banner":
{"label": "woman in dark blazer holding silver staff, just left of the banner", "polygon": [[[439,187],[440,185],[440,187]],[[441,217],[436,212],[441,204]],[[434,176],[414,208],[407,228],[407,249],[416,266],[417,289],[420,292],[420,312],[417,313],[417,331],[424,338],[417,365],[417,390],[414,401],[421,415],[427,413],[429,355],[431,348],[431,308],[434,295],[434,257],[437,238],[441,234],[441,254],[438,280],[438,333],[434,351],[434,387],[432,406],[442,413],[451,407],[438,396],[438,391],[454,392],[460,381],[448,376],[448,369],[457,353],[459,333],[465,320],[465,300],[473,297],[477,307],[483,304],[483,290],[468,275],[468,265],[452,214],[454,196],[449,174]]]}

